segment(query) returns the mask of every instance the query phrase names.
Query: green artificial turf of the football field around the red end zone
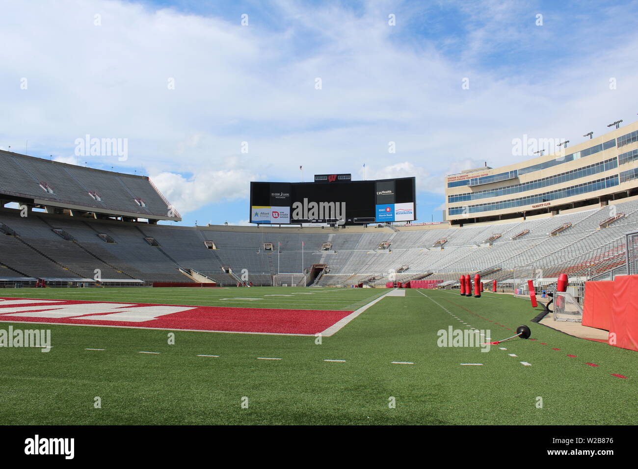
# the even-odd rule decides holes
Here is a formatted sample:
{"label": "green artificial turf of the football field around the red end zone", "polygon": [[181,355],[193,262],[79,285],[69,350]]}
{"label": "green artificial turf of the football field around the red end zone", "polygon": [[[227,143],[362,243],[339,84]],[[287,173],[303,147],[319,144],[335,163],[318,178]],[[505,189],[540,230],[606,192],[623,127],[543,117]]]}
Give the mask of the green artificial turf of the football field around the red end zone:
{"label": "green artificial turf of the football field around the red end zone", "polygon": [[[206,306],[223,306],[224,297],[262,297],[226,306],[351,309],[387,292],[336,289],[264,297],[315,290],[184,290],[47,288],[4,290],[1,296]],[[432,300],[472,327],[491,329],[494,340],[514,332],[471,313],[510,329],[528,324],[538,340],[510,341],[500,345],[507,351],[493,346],[487,353],[441,348],[439,329],[466,326]],[[182,331],[175,331],[175,345],[168,345],[168,331],[47,325],[53,348],[46,354],[0,348],[0,419],[4,424],[635,424],[638,353],[529,322],[536,314],[528,301],[509,295],[475,299],[406,290],[406,297],[382,299],[323,338],[322,345],[314,337]],[[1,323],[0,329],[9,325]],[[459,365],[465,362],[483,365]],[[95,396],[101,398],[100,409],[93,406]],[[244,396],[248,408],[241,407]],[[396,408],[389,408],[391,396]],[[538,396],[543,408],[536,406]]]}

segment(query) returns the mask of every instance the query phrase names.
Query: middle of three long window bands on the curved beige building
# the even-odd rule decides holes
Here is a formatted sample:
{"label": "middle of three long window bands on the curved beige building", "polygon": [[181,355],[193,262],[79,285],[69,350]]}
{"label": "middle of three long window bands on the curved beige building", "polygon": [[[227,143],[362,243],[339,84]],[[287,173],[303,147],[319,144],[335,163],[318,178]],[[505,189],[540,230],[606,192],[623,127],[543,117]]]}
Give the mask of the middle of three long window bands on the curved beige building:
{"label": "middle of three long window bands on the curved beige building", "polygon": [[536,179],[535,181],[523,182],[521,184],[514,184],[498,189],[476,191],[465,194],[449,195],[447,201],[451,204],[453,202],[466,202],[467,200],[479,200],[482,198],[499,197],[501,195],[516,194],[524,191],[530,191],[534,189],[540,189],[553,184],[560,184],[561,182],[573,181],[581,177],[587,177],[592,174],[598,174],[610,169],[618,167],[618,161],[616,158],[610,158],[609,160],[600,161],[593,165],[588,165],[582,168],[567,171],[561,174],[556,174],[550,177],[544,177],[542,179]]}

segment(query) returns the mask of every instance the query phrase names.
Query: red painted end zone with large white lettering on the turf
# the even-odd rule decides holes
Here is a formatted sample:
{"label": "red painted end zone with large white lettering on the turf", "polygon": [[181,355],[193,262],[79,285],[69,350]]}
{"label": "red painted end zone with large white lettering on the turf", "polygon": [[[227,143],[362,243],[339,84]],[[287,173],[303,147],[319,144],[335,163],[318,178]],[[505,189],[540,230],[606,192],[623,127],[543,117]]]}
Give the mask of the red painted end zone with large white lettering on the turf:
{"label": "red painted end zone with large white lettering on the turf", "polygon": [[352,311],[225,308],[0,297],[0,322],[312,335]]}

